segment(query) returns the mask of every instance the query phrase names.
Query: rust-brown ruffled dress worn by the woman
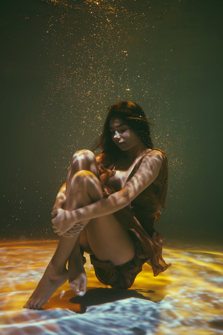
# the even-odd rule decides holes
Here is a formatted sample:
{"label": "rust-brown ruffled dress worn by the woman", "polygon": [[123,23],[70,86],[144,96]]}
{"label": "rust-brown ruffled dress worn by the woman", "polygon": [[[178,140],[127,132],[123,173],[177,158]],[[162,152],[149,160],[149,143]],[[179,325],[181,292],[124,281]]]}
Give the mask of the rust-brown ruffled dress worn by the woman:
{"label": "rust-brown ruffled dress worn by the woman", "polygon": [[[166,264],[162,259],[162,238],[154,229],[154,224],[158,221],[161,212],[160,206],[165,208],[166,192],[168,186],[168,163],[166,154],[158,150],[163,157],[162,166],[156,179],[157,183],[150,184],[142,191],[132,202],[131,207],[127,206],[113,215],[121,222],[122,226],[129,230],[130,235],[135,241],[136,253],[134,258],[123,264],[114,266],[110,261],[100,261],[94,255],[90,255],[91,263],[94,266],[96,277],[105,285],[114,288],[129,288],[133,284],[137,274],[142,271],[142,265],[147,262],[151,265],[154,276],[159,272],[165,271],[171,264]],[[126,183],[138,170],[142,159],[149,155],[149,150],[139,159],[130,173]],[[103,197],[108,197],[115,190],[108,183],[109,179],[114,176],[115,171],[112,166],[105,169],[101,163],[98,163],[101,183],[104,189]]]}

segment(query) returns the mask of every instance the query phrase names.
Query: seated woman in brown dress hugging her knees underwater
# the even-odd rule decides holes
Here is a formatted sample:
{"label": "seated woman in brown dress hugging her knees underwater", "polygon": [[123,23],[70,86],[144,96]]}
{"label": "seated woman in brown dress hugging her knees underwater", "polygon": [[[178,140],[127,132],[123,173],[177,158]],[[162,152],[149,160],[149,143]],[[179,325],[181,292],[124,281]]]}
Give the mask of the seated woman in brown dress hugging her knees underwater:
{"label": "seated woman in brown dress hugging her knees underwater", "polygon": [[52,210],[60,241],[25,308],[41,308],[67,279],[84,295],[84,251],[97,278],[115,288],[129,288],[145,262],[154,276],[171,265],[161,257],[154,229],[165,207],[167,160],[153,148],[141,107],[129,101],[110,106],[96,148],[102,149],[96,158],[90,150],[73,156]]}

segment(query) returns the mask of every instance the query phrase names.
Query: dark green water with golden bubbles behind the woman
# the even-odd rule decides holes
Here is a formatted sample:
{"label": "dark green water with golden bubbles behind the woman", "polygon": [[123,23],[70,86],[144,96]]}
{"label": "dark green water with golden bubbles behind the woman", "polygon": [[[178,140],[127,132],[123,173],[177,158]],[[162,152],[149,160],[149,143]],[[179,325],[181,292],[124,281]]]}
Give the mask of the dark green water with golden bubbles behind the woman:
{"label": "dark green water with golden bubbles behind the woman", "polygon": [[222,239],[222,2],[8,1],[1,11],[1,236],[55,238],[50,212],[106,108],[137,102],[169,158],[166,239]]}

